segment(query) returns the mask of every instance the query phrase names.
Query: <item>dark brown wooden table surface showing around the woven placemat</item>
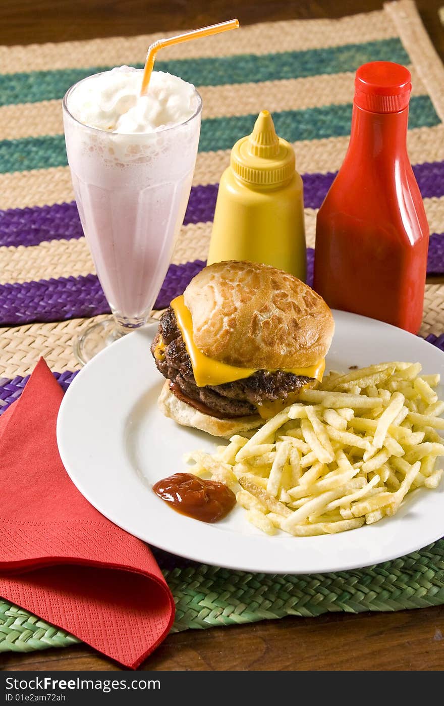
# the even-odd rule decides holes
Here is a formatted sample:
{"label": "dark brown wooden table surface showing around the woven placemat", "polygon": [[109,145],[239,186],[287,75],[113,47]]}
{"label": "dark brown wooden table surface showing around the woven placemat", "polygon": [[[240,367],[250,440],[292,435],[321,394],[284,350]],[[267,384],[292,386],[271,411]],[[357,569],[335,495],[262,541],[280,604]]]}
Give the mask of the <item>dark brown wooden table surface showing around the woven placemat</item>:
{"label": "dark brown wooden table surface showing around the woven placemat", "polygon": [[[438,19],[444,0],[418,0],[416,4],[444,60],[444,32]],[[381,7],[378,0],[212,0],[211,4],[203,0],[3,0],[0,44],[130,36],[200,27],[235,16],[243,24],[333,18]],[[444,606],[393,614],[283,618],[170,635],[142,668],[440,670],[444,669],[443,636]],[[84,645],[4,653],[1,664],[7,670],[119,669]]]}

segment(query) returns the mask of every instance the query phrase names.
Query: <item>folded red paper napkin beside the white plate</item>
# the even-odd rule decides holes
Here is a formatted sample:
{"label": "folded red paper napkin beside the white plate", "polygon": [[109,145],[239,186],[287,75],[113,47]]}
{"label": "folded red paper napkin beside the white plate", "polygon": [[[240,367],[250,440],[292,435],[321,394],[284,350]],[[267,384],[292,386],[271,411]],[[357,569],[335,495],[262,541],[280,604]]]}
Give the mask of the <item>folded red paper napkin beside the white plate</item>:
{"label": "folded red paper napkin beside the white plate", "polygon": [[56,443],[62,397],[40,359],[0,418],[0,596],[136,669],[172,626],[174,600],[148,546],[68,477]]}

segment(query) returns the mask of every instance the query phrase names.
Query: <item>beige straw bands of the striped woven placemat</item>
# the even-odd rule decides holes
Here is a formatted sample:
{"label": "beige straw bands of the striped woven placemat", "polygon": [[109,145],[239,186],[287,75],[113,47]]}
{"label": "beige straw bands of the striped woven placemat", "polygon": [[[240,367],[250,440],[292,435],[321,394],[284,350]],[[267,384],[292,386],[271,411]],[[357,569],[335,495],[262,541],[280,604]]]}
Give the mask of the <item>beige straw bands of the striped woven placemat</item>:
{"label": "beige straw bands of the striped woven placemat", "polygon": [[[167,50],[165,59],[194,59],[235,54],[268,54],[304,49],[323,49],[359,42],[400,37],[409,54],[414,94],[429,95],[444,120],[444,71],[421,24],[414,4],[400,0],[383,10],[340,20],[292,20],[251,25],[201,42],[189,42]],[[160,36],[160,35],[157,35]],[[239,37],[241,36],[241,41]],[[140,61],[156,37],[114,37],[87,42],[0,47],[0,74]],[[239,51],[241,46],[241,51]],[[278,49],[276,49],[278,47]],[[320,74],[308,78],[264,80],[260,83],[204,86],[204,119],[254,114],[266,99],[272,111],[303,110],[331,103],[345,104],[350,97],[350,74]],[[40,138],[61,133],[60,102],[11,104],[0,107],[0,134],[4,139]],[[444,160],[444,126],[419,127],[409,131],[409,153],[413,163]],[[294,143],[301,173],[332,172],[340,167],[348,137],[301,140]],[[229,163],[229,150],[200,152],[195,185],[215,184]],[[0,208],[26,208],[63,203],[73,199],[68,167],[32,169],[0,174]],[[444,231],[444,198],[425,199],[431,232]],[[306,209],[309,246],[314,243],[316,210]],[[205,259],[211,224],[187,225],[174,251],[173,262]],[[37,246],[0,247],[0,284],[28,282],[49,277],[93,273],[85,240],[52,240]],[[99,321],[103,317],[96,317]],[[73,339],[85,320],[33,323],[0,329],[0,366],[5,377],[25,375],[44,355],[54,371],[78,369],[73,357]],[[444,285],[427,285],[421,335],[444,332]]]}

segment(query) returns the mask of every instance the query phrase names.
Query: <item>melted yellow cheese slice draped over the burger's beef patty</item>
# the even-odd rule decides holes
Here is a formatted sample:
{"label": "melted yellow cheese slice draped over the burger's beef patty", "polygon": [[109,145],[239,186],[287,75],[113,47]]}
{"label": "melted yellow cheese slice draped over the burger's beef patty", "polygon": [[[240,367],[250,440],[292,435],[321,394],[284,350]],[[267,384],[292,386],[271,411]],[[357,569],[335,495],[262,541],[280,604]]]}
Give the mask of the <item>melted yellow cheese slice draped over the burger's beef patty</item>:
{"label": "melted yellow cheese slice draped over the burger's beef patty", "polygon": [[[249,378],[253,373],[256,373],[256,368],[238,368],[227,363],[220,363],[214,360],[198,349],[193,340],[193,323],[191,321],[191,313],[184,304],[184,297],[176,297],[171,302],[172,309],[176,315],[177,325],[184,338],[185,347],[191,359],[193,367],[194,379],[198,388],[205,385],[223,385],[224,383],[232,383],[235,380]],[[159,351],[161,355],[162,352]],[[316,378],[321,381],[325,370],[325,360],[318,361],[316,365],[309,368],[292,368],[285,369],[286,373],[294,373],[294,375],[304,375],[308,378]],[[287,402],[288,404],[288,402]]]}

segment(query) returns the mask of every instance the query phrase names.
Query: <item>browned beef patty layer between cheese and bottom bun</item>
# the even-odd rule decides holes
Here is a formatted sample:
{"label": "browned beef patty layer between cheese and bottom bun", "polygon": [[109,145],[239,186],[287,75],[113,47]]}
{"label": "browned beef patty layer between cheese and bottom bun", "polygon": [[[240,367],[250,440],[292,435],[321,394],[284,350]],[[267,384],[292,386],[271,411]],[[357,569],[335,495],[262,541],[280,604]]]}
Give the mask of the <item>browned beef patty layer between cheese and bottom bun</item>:
{"label": "browned beef patty layer between cheese and bottom bun", "polygon": [[313,378],[307,378],[284,371],[258,370],[249,378],[236,380],[223,385],[205,385],[199,388],[193,375],[191,360],[185,347],[184,339],[176,322],[171,306],[162,314],[160,326],[151,345],[155,357],[155,348],[160,335],[165,344],[164,357],[155,358],[155,364],[165,378],[179,385],[181,392],[191,400],[198,400],[224,417],[244,417],[257,414],[255,403],[286,400],[289,393],[298,392]]}

